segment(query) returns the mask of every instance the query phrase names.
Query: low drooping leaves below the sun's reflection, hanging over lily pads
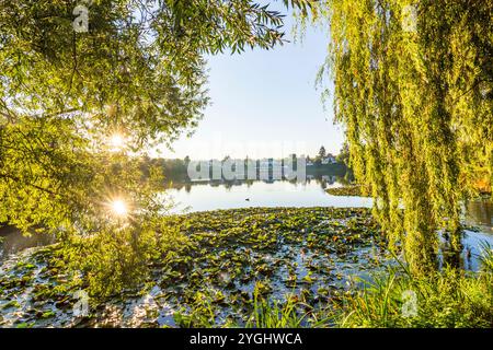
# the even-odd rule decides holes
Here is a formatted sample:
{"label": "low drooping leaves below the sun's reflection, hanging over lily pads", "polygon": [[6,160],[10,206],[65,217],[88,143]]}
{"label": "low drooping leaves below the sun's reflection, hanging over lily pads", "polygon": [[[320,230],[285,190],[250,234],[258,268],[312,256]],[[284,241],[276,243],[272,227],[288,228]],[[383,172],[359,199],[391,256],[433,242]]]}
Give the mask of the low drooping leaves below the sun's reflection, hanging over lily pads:
{"label": "low drooping leaves below the sun's reflection, hanging over lily pads", "polygon": [[146,218],[133,225],[107,225],[94,235],[70,237],[58,258],[68,270],[81,273],[91,295],[104,298],[142,285],[153,262],[182,254],[188,245],[175,228]]}

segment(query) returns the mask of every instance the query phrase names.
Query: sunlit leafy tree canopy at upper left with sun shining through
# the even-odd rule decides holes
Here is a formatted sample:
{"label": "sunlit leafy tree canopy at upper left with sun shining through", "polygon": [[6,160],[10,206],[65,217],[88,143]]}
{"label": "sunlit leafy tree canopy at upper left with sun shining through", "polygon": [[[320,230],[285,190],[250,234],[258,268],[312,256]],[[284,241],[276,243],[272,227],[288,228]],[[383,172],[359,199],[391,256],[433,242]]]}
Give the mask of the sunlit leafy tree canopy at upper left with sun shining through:
{"label": "sunlit leafy tree canopy at upper left with sun shining through", "polygon": [[[72,27],[73,1],[0,3],[0,222],[65,240],[114,230],[114,197],[144,218],[162,210],[136,155],[196,126],[204,55],[271,48],[284,35],[283,15],[250,0],[81,4],[87,32]],[[115,149],[114,136],[125,144]]]}

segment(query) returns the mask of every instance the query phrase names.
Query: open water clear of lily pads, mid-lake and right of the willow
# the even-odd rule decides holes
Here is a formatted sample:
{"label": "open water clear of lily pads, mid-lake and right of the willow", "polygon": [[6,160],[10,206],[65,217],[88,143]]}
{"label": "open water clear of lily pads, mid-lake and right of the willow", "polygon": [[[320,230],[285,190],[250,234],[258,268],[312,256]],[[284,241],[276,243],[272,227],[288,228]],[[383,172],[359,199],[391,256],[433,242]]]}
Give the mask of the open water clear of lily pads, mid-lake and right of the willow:
{"label": "open water clear of lily pads, mid-lake and right of the willow", "polygon": [[[272,182],[202,182],[187,190],[174,186],[168,191],[176,202],[176,212],[186,209],[206,211],[245,207],[365,207],[372,200],[363,197],[339,197],[325,192],[326,188],[343,185],[335,176],[310,176],[306,183],[287,180]],[[467,230],[462,236],[462,250],[452,252],[446,242],[440,246],[442,264],[460,265],[469,270],[479,268],[481,243],[493,246],[493,205],[486,200],[469,201],[463,206],[465,221],[479,226],[479,232]]]}

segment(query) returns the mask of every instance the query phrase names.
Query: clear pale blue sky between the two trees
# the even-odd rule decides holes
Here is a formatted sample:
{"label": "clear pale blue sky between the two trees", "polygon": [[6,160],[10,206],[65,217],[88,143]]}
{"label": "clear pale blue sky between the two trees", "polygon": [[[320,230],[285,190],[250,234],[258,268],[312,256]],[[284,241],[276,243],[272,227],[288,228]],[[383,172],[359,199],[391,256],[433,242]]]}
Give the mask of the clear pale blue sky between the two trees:
{"label": "clear pale blue sky between the two trees", "polygon": [[332,104],[324,110],[314,83],[325,59],[328,33],[309,27],[302,42],[295,40],[294,23],[287,15],[290,43],[284,46],[208,57],[211,104],[195,133],[174,142],[174,152],[161,149],[160,155],[195,160],[314,155],[322,144],[339,153],[342,127],[333,124]]}

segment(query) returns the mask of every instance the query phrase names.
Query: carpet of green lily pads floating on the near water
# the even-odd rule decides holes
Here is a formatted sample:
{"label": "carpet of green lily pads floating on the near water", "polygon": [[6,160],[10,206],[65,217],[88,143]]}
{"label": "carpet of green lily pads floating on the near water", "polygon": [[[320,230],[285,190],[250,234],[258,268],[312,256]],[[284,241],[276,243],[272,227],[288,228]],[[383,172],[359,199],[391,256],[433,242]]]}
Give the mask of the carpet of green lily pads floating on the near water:
{"label": "carpet of green lily pads floating on the near water", "polygon": [[162,220],[186,237],[182,248],[149,260],[150,276],[139,288],[90,298],[84,317],[73,307],[87,279],[56,258],[58,245],[4,261],[0,325],[244,326],[259,307],[255,298],[290,295],[299,305],[324,307],[354,276],[365,278],[383,261],[385,243],[367,209],[254,208]]}

